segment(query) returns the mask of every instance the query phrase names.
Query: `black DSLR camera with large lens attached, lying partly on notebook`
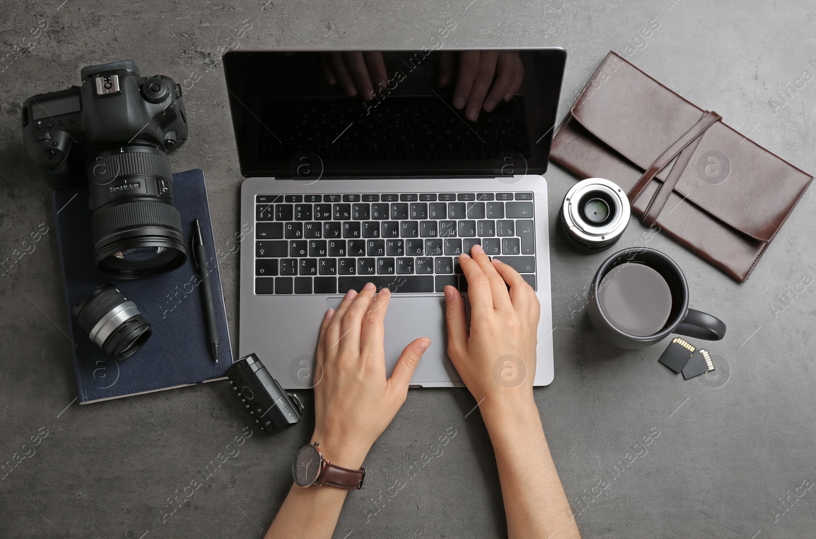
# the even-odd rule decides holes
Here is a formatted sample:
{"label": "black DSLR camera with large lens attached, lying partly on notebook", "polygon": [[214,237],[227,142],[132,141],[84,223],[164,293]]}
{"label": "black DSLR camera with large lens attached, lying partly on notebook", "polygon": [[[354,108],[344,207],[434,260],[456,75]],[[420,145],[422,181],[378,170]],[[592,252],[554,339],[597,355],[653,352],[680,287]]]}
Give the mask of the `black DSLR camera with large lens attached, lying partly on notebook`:
{"label": "black DSLR camera with large lens attached, lying partly on notebook", "polygon": [[187,260],[167,153],[187,139],[181,86],[133,60],[82,68],[82,86],[23,104],[23,140],[54,188],[90,188],[96,267],[118,279]]}

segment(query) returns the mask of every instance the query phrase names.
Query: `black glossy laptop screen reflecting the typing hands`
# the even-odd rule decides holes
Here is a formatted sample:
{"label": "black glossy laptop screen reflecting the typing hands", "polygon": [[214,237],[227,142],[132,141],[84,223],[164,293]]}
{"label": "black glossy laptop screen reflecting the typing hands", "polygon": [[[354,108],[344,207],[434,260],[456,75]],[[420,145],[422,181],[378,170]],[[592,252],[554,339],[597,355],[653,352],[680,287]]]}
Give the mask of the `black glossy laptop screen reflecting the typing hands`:
{"label": "black glossy laptop screen reflecting the typing hands", "polygon": [[566,53],[229,51],[244,176],[543,174]]}

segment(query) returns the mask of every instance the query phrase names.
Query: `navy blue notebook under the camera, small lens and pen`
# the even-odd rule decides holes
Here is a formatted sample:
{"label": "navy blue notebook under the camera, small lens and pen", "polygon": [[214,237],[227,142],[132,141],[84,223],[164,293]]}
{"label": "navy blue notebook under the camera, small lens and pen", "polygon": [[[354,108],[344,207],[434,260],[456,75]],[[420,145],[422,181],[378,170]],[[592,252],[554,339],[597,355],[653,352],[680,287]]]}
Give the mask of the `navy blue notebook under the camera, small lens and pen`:
{"label": "navy blue notebook under the camera, small lens and pen", "polygon": [[[188,251],[190,227],[193,219],[198,219],[210,259],[207,265],[215,267],[211,270],[211,284],[220,339],[219,362],[215,363],[211,356],[192,254],[188,252],[187,262],[175,272],[149,279],[120,281],[104,276],[94,264],[87,188],[55,191],[55,229],[81,404],[218,380],[225,378],[224,372],[233,364],[204,173],[201,169],[176,173],[173,184]],[[125,360],[106,356],[73,317],[73,307],[103,283],[116,286],[152,325],[148,342]]]}

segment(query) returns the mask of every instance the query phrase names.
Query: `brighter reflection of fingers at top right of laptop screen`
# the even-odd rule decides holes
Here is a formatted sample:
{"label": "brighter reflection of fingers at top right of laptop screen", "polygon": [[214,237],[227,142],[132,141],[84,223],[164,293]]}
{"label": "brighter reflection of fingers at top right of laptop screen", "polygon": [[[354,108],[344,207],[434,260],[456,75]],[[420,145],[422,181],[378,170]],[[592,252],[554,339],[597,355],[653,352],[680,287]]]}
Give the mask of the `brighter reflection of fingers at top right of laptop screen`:
{"label": "brighter reflection of fingers at top right of laptop screen", "polygon": [[[439,59],[439,86],[454,79],[454,52],[445,51]],[[518,51],[461,51],[456,74],[453,104],[464,108],[465,117],[476,121],[481,108],[490,113],[504,99],[509,101],[521,88],[524,64]]]}

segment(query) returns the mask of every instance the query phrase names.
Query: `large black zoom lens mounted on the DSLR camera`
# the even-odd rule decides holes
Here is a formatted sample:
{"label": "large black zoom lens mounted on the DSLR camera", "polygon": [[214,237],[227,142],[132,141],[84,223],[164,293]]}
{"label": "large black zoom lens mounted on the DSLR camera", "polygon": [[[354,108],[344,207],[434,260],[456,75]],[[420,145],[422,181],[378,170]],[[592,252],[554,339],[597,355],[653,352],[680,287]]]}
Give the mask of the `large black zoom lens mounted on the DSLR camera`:
{"label": "large black zoom lens mounted on the DSLR camera", "polygon": [[142,144],[96,152],[86,175],[100,272],[140,279],[171,272],[187,260],[165,152]]}

